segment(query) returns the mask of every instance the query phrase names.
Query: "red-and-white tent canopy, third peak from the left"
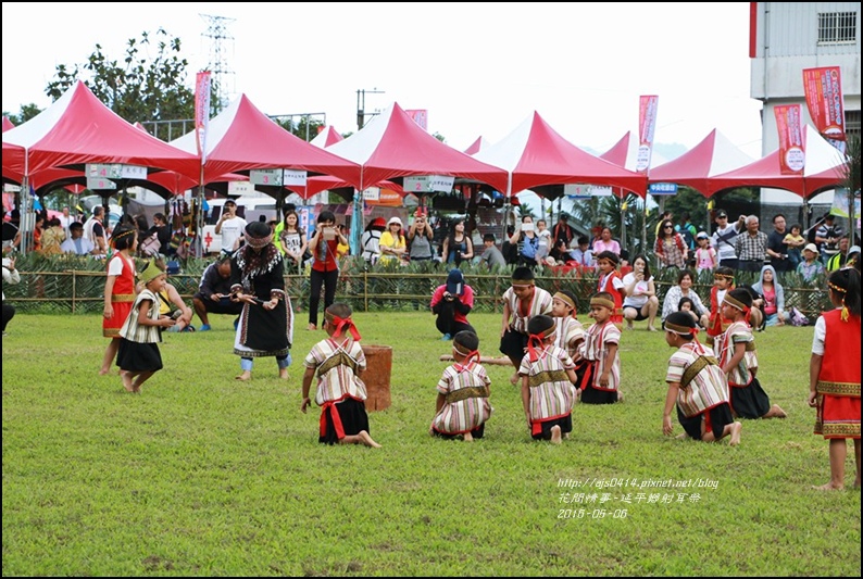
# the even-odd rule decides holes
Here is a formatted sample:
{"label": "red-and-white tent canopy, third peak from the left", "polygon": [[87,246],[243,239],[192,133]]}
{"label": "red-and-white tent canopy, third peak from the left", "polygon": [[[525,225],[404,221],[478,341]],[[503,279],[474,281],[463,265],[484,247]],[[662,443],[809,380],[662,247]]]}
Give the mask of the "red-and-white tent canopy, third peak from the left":
{"label": "red-and-white tent canopy, third peak from the left", "polygon": [[409,175],[447,175],[501,190],[506,172],[477,161],[426,133],[398,103],[327,151],[362,165],[359,189]]}

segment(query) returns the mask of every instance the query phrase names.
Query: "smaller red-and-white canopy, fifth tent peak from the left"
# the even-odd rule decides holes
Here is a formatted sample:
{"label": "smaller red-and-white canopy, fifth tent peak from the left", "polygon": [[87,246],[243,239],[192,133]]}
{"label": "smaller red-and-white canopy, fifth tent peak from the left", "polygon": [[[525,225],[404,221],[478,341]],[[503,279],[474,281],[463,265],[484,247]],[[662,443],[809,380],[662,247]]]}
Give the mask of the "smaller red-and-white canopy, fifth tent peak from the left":
{"label": "smaller red-and-white canopy, fifth tent peak from the left", "polygon": [[715,128],[674,161],[650,169],[650,182],[676,182],[711,197],[718,191],[716,175],[736,169],[753,160]]}

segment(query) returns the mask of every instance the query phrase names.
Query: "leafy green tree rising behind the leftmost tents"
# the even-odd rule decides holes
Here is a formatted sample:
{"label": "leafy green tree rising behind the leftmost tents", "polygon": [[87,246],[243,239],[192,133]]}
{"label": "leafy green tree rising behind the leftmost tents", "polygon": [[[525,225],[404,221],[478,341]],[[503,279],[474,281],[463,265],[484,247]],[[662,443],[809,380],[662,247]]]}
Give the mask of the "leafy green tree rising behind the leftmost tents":
{"label": "leafy green tree rising behind the leftmost tents", "polygon": [[141,54],[151,45],[149,33],[143,32],[140,40],[128,40],[122,62],[109,59],[97,43],[86,64],[58,65],[46,93],[57,100],[89,72],[85,83],[93,95],[129,123],[193,118],[195,92],[186,86],[189,63],[179,55],[180,40],[163,28],[155,37],[154,58]]}

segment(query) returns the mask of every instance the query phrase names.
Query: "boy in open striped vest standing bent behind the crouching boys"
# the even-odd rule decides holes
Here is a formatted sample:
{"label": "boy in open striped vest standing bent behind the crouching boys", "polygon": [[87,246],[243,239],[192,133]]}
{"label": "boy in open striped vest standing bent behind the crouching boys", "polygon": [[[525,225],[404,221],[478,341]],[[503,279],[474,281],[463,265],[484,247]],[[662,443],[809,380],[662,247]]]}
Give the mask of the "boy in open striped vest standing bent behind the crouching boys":
{"label": "boy in open striped vest standing bent behind the crouching boys", "polygon": [[[500,351],[517,368],[527,348],[527,320],[539,314],[551,313],[551,293],[536,287],[534,272],[527,266],[512,273],[512,286],[503,292],[503,319],[500,328]],[[510,378],[518,383],[518,373]]]}

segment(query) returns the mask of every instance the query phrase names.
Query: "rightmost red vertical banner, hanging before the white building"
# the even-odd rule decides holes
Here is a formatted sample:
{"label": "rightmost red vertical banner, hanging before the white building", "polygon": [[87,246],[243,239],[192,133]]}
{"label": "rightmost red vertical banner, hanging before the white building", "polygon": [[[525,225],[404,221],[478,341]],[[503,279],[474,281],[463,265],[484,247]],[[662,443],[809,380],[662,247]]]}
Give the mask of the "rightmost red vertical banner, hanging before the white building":
{"label": "rightmost red vertical banner, hanging before the white building", "polygon": [[842,77],[839,67],[803,68],[803,92],[815,128],[830,144],[845,153]]}

